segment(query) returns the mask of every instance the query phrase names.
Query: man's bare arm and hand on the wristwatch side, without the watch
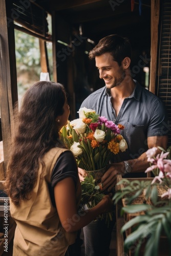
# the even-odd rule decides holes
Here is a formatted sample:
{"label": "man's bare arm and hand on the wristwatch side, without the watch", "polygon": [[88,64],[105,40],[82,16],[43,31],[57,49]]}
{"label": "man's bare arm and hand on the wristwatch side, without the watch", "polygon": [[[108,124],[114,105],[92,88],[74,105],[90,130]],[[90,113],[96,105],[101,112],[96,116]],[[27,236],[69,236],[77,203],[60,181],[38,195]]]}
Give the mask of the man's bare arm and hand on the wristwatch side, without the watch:
{"label": "man's bare arm and hand on the wristwatch side, without the watch", "polygon": [[[164,148],[164,150],[166,150],[167,141],[168,141],[167,136],[148,137],[147,138],[148,148],[160,146],[160,147]],[[157,152],[157,154],[160,152],[161,151],[159,150]],[[132,173],[145,172],[147,167],[149,167],[149,162],[147,162],[146,153],[143,153],[137,159],[130,159],[130,160],[128,160],[128,162],[132,166]],[[124,168],[125,168],[125,166],[124,166],[123,162],[110,164],[109,169],[106,171],[106,173],[101,178],[101,182],[102,182],[104,190],[108,189],[108,191],[110,191],[115,186],[116,175],[119,173],[124,174]]]}

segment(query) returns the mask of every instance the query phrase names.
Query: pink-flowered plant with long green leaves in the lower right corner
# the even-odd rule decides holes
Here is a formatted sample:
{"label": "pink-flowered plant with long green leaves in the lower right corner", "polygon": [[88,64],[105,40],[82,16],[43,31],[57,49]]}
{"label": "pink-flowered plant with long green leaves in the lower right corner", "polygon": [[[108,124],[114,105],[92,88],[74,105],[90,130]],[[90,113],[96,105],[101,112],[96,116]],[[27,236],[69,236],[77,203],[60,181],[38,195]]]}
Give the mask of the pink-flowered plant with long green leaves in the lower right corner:
{"label": "pink-flowered plant with long green leaves in the lower right corner", "polygon": [[[156,156],[158,149],[161,153]],[[127,234],[124,251],[134,248],[135,256],[168,256],[171,255],[170,147],[167,152],[161,147],[153,147],[146,154],[150,166],[145,173],[153,172],[155,177],[122,179],[117,183],[122,188],[113,198],[115,204],[122,199],[121,214],[134,217],[127,220],[121,229]],[[162,254],[159,253],[161,243]]]}

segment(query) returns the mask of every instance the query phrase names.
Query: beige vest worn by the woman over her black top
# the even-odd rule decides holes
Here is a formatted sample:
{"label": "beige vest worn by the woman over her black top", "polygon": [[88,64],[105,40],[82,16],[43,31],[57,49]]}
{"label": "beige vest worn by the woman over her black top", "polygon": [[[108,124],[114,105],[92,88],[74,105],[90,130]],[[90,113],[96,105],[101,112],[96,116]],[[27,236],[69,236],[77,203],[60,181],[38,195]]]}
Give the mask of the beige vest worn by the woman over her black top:
{"label": "beige vest worn by the woman over her black top", "polygon": [[[15,206],[10,200],[10,212],[17,226],[14,236],[13,255],[55,255],[63,256],[69,245],[75,242],[76,233],[67,233],[59,221],[56,207],[53,207],[48,183],[59,155],[65,148],[52,148],[44,157],[46,165],[42,173],[38,170],[36,186],[30,200],[23,200]],[[31,177],[24,182],[29,182]],[[80,203],[81,187],[78,178],[76,187],[77,205]]]}

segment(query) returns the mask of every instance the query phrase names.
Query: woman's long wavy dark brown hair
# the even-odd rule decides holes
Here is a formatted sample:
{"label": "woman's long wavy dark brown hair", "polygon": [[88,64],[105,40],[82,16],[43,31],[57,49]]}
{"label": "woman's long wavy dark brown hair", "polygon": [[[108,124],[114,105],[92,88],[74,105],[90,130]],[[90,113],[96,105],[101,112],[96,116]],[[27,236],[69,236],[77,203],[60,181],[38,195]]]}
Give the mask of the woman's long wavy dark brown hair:
{"label": "woman's long wavy dark brown hair", "polygon": [[25,94],[15,116],[7,166],[5,191],[15,205],[29,199],[36,184],[42,157],[55,147],[58,132],[55,118],[63,114],[65,88],[60,83],[40,81]]}

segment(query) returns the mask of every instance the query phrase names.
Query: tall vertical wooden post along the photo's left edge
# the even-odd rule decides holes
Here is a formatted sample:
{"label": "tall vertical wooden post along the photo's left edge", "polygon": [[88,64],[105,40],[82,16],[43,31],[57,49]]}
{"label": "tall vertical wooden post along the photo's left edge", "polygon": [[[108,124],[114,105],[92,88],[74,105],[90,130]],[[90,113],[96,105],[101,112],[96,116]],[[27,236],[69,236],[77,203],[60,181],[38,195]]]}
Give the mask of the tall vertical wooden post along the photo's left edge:
{"label": "tall vertical wooden post along the photo's left edge", "polygon": [[5,168],[13,126],[13,105],[17,101],[14,26],[13,23],[8,23],[8,17],[11,17],[11,6],[11,0],[0,1],[0,70],[2,71],[0,72],[0,101]]}

